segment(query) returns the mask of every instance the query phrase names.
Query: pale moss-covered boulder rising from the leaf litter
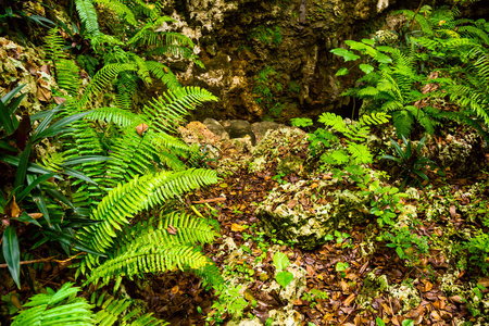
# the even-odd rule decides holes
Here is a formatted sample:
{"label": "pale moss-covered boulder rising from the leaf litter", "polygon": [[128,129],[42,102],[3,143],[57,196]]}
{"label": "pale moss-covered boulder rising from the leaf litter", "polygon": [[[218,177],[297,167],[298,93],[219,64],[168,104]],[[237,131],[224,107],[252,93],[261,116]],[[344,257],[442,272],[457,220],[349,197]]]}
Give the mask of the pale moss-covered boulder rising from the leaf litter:
{"label": "pale moss-covered boulder rising from the leaf litter", "polygon": [[363,222],[368,200],[358,191],[340,190],[333,180],[299,180],[271,191],[256,209],[268,236],[312,250],[338,227]]}

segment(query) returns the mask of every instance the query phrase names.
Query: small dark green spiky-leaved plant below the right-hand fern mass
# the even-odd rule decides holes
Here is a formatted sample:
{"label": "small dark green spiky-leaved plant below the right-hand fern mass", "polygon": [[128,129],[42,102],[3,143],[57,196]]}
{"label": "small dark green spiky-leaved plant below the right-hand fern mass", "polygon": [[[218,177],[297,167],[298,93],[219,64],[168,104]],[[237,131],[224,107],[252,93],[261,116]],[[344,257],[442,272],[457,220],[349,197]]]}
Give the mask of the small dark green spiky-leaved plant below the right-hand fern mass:
{"label": "small dark green spiky-leaved plant below the right-hand fern mass", "polygon": [[[436,168],[435,162],[422,155],[422,149],[425,145],[425,137],[423,137],[416,148],[413,148],[411,140],[405,139],[402,136],[402,141],[404,142],[405,149],[399,146],[399,143],[390,138],[390,142],[394,149],[397,156],[385,154],[381,158],[391,160],[400,165],[402,168],[400,177],[403,179],[401,189],[404,189],[405,185],[414,183],[423,188],[423,180],[429,180],[426,175],[427,166]],[[444,175],[441,170],[438,170],[439,175]]]}

